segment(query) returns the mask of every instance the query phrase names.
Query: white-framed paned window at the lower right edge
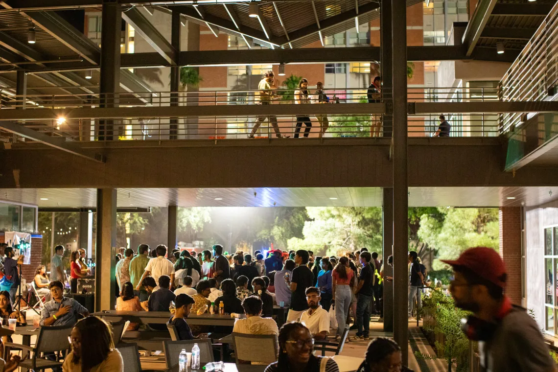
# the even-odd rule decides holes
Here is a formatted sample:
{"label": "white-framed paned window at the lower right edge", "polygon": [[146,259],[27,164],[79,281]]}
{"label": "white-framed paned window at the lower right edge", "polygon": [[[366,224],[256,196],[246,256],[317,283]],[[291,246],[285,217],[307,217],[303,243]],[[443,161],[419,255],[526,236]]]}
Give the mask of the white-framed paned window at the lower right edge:
{"label": "white-framed paned window at the lower right edge", "polygon": [[555,334],[556,307],[558,306],[558,226],[546,228],[545,239],[545,331]]}

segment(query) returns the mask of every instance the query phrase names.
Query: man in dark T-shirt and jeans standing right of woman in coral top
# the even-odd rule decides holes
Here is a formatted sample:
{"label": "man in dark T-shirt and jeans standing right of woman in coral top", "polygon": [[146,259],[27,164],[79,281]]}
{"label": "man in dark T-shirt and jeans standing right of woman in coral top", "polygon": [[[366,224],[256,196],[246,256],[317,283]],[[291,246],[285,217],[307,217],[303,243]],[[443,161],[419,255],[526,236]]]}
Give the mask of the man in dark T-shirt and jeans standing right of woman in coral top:
{"label": "man in dark T-shirt and jeans standing right of woman in coral top", "polygon": [[357,315],[355,323],[357,325],[357,334],[354,337],[349,337],[351,341],[359,341],[370,339],[370,303],[373,299],[374,284],[376,284],[376,276],[374,276],[374,267],[371,263],[372,255],[368,252],[360,254],[360,262],[362,263],[362,270],[360,270],[360,277],[355,291],[357,294]]}

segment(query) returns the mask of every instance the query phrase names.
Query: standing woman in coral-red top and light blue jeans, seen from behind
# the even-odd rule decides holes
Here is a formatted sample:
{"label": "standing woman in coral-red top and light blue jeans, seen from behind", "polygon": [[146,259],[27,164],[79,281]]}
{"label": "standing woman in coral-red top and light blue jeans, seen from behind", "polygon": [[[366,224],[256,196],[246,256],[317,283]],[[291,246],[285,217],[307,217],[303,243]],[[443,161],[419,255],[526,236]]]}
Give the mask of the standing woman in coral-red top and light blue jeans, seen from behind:
{"label": "standing woman in coral-red top and light blue jeans, seen from behind", "polygon": [[349,268],[349,259],[347,257],[339,258],[339,263],[335,265],[331,274],[331,282],[331,292],[333,292],[335,301],[335,318],[337,320],[337,335],[335,339],[339,341],[347,323],[347,316],[349,315],[350,304],[352,302],[351,286],[354,282],[353,270]]}

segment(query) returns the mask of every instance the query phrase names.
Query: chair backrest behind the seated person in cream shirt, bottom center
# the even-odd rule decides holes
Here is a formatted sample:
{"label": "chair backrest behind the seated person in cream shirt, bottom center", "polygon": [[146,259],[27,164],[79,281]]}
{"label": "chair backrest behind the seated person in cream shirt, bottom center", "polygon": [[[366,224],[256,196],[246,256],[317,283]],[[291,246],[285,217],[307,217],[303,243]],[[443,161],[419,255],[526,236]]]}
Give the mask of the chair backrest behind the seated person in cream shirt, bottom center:
{"label": "chair backrest behind the seated person in cream shirt, bottom center", "polygon": [[267,364],[277,361],[279,342],[276,335],[233,333],[232,336],[237,364],[240,360]]}

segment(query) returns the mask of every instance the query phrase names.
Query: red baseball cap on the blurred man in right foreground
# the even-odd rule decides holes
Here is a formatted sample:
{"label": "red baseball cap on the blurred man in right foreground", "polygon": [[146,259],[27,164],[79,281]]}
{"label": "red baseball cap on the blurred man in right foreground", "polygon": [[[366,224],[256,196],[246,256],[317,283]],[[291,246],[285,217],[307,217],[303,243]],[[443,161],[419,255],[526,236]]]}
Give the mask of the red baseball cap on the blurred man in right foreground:
{"label": "red baseball cap on the blurred man in right foreground", "polygon": [[440,260],[451,266],[471,270],[479,277],[506,288],[506,265],[496,250],[488,247],[475,247],[465,250],[456,260]]}

